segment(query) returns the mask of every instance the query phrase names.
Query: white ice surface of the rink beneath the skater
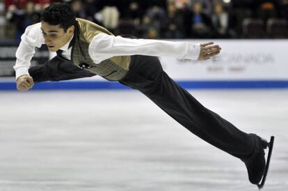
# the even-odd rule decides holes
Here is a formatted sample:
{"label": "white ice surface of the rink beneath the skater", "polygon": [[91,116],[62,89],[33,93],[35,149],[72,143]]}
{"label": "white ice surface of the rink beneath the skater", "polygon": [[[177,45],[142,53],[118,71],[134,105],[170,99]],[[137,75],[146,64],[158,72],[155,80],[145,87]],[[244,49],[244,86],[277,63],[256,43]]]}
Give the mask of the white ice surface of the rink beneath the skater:
{"label": "white ice surface of the rink beneath the skater", "polygon": [[[190,90],[245,132],[275,135],[263,190],[288,190],[288,89]],[[0,91],[1,191],[257,190],[243,163],[137,91]]]}

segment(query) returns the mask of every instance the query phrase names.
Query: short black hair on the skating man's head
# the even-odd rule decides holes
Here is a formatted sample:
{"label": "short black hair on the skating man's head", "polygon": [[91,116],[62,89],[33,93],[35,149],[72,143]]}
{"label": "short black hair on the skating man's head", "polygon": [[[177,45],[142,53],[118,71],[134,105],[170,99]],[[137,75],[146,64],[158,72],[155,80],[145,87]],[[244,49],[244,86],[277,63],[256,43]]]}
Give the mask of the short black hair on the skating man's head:
{"label": "short black hair on the skating man's head", "polygon": [[51,3],[51,5],[42,12],[40,20],[50,25],[60,24],[61,28],[66,32],[70,26],[76,24],[75,19],[75,13],[69,4]]}

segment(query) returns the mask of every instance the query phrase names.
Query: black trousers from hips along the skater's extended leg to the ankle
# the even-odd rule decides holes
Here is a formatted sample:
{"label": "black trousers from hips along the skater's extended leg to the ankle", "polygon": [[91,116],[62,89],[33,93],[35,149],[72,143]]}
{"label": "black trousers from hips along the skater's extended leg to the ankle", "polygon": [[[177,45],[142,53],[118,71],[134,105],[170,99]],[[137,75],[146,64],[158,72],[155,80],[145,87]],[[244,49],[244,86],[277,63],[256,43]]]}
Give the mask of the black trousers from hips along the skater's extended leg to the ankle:
{"label": "black trousers from hips along the skater's extended leg to the ankle", "polygon": [[211,112],[163,71],[154,56],[131,56],[121,84],[137,89],[186,129],[221,150],[246,160],[255,152],[256,135],[247,134]]}

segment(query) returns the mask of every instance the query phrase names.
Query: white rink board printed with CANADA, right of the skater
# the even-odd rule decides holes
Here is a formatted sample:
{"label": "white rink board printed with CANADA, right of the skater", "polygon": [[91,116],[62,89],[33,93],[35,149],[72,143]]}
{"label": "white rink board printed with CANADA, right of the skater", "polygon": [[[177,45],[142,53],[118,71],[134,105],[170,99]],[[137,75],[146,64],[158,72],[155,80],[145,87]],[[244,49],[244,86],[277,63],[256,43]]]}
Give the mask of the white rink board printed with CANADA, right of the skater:
{"label": "white rink board printed with CANADA, right of the skater", "polygon": [[[194,41],[194,43],[209,42],[209,40]],[[213,41],[222,47],[218,56],[207,61],[189,61],[162,56],[160,59],[164,70],[176,80],[288,79],[288,40]]]}

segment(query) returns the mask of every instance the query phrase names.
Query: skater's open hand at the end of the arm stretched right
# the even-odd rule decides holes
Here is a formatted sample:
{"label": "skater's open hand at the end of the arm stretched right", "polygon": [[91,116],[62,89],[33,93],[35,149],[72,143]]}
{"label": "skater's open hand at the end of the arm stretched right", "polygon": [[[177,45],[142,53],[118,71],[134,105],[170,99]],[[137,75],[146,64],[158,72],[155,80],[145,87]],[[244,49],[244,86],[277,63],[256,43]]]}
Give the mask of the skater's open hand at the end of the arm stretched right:
{"label": "skater's open hand at the end of the arm stretched right", "polygon": [[200,55],[198,57],[198,61],[211,59],[211,56],[215,56],[220,53],[221,47],[219,47],[219,45],[213,44],[213,42],[209,42],[200,45]]}

